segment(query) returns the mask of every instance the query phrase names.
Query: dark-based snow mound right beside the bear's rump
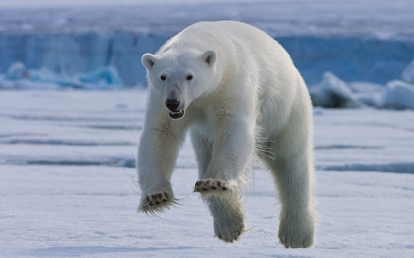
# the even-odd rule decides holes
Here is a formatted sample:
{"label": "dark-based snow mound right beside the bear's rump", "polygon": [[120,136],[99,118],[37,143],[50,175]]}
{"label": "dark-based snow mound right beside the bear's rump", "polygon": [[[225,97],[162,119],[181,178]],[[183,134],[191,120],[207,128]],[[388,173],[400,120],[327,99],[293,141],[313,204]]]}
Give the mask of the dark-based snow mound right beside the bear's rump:
{"label": "dark-based snow mound right beside the bear's rump", "polygon": [[319,85],[309,89],[309,94],[313,106],[324,108],[355,108],[359,106],[348,84],[329,71],[324,72]]}

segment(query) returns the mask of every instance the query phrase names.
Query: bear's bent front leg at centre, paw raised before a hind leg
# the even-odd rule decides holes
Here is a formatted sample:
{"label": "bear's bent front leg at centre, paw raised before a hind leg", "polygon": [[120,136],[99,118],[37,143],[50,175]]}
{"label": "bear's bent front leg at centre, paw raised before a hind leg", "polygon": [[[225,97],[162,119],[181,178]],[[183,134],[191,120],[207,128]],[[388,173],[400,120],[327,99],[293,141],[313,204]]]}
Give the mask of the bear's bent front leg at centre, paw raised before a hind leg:
{"label": "bear's bent front leg at centre, paw raised before a hind leg", "polygon": [[[200,180],[194,186],[194,192],[203,195],[225,196],[239,192],[246,184],[246,170],[251,165],[255,149],[255,116],[253,108],[240,113],[234,108],[225,108],[215,114],[214,132],[208,140],[208,162],[200,171]],[[193,141],[197,152],[202,140]],[[197,155],[199,162],[203,155]]]}

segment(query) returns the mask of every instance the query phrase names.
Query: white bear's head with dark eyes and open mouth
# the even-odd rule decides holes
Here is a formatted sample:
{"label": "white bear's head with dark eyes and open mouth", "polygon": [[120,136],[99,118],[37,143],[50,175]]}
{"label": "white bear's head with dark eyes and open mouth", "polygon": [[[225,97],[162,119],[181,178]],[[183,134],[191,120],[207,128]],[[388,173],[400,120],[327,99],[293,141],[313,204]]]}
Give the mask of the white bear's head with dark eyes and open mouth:
{"label": "white bear's head with dark eyes and open mouth", "polygon": [[164,99],[169,117],[180,119],[194,99],[207,96],[217,87],[217,52],[173,50],[160,55],[145,54],[141,59],[148,70],[148,83]]}

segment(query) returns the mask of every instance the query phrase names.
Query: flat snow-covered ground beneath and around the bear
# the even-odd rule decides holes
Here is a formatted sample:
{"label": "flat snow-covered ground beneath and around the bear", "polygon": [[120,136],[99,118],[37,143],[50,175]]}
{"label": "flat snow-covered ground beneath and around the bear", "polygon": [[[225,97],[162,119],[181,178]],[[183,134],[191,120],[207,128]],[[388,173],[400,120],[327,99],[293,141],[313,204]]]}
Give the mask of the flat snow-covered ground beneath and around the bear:
{"label": "flat snow-covered ground beneath and around the bear", "polygon": [[[246,196],[251,230],[232,245],[192,193],[186,143],[173,189],[181,206],[136,213],[131,162],[145,89],[0,91],[1,257],[413,257],[414,112],[315,108],[313,248],[283,249],[279,204],[257,166]],[[378,172],[383,171],[383,172]]]}

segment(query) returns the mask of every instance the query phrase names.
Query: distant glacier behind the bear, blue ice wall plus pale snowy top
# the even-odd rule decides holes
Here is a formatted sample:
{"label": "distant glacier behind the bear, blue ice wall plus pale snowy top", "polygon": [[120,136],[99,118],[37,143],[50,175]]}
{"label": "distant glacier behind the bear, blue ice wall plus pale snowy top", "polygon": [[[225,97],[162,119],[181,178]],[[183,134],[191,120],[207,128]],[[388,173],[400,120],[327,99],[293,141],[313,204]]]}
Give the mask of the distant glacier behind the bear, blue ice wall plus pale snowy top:
{"label": "distant glacier behind the bear, blue ice wall plus pale snowy top", "polygon": [[113,66],[125,87],[146,85],[141,55],[201,20],[239,20],[263,29],[287,49],[310,87],[325,71],[346,83],[385,85],[401,79],[414,59],[411,0],[68,1],[65,8],[43,1],[18,8],[38,2],[21,1],[0,1],[8,6],[0,9],[0,73],[16,62],[69,76]]}

